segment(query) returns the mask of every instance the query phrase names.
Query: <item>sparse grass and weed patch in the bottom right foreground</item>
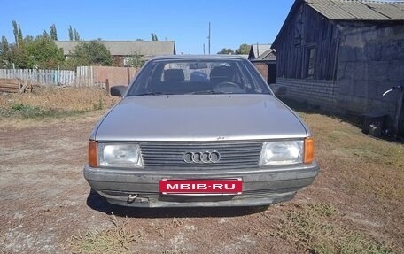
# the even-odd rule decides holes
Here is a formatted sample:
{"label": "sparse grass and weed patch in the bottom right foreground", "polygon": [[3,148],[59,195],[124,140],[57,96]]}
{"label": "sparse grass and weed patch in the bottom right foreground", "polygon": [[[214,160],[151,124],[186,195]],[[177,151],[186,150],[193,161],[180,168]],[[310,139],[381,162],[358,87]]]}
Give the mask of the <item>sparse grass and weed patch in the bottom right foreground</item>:
{"label": "sparse grass and weed patch in the bottom right foreground", "polygon": [[392,253],[385,244],[343,227],[341,218],[330,204],[306,204],[286,212],[271,235],[298,246],[302,253]]}

